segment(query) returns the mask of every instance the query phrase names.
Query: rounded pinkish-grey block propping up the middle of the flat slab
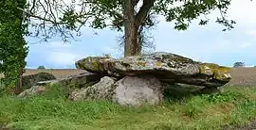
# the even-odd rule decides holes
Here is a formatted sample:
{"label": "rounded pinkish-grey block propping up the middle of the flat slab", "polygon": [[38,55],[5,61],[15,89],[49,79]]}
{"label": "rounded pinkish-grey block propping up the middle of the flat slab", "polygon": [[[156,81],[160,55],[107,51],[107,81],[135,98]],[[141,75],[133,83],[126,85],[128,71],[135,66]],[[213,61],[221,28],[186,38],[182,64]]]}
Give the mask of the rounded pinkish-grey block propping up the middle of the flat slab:
{"label": "rounded pinkish-grey block propping up the middle of the flat slab", "polygon": [[112,100],[122,106],[158,105],[163,100],[162,84],[153,76],[125,76],[115,86]]}

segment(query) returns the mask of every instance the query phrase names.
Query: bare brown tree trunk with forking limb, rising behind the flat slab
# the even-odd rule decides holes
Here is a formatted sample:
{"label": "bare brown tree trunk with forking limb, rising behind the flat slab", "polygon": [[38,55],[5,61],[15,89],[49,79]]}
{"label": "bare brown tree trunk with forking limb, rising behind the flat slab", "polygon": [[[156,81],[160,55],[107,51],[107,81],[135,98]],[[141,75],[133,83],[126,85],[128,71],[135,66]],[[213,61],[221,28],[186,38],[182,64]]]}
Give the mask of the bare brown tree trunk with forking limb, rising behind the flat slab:
{"label": "bare brown tree trunk with forking limb, rising behind the flat slab", "polygon": [[139,0],[124,0],[124,57],[137,56],[141,53],[141,45],[138,42],[138,27],[146,19],[155,0],[143,0],[142,7],[136,13],[135,6]]}

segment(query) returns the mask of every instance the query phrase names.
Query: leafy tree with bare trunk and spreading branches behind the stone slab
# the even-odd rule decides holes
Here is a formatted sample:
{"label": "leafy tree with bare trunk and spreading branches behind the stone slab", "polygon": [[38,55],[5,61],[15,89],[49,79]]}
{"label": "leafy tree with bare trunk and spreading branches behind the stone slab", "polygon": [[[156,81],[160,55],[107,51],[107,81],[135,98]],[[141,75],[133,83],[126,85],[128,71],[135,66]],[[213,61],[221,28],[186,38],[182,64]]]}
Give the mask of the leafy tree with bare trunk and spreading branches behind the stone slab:
{"label": "leafy tree with bare trunk and spreading branches behind the stone slab", "polygon": [[[43,33],[44,41],[60,34],[64,41],[74,38],[72,32],[80,35],[83,25],[102,29],[111,27],[124,31],[124,57],[141,53],[139,29],[154,15],[163,15],[167,22],[175,24],[174,29],[186,30],[192,20],[200,19],[199,24],[208,24],[207,16],[218,9],[220,17],[216,23],[233,28],[235,22],[228,20],[226,13],[230,0],[31,0],[29,8],[22,9],[27,17],[36,19],[31,24],[37,31],[34,36]],[[41,10],[41,11],[39,11]],[[30,21],[31,22],[31,21]],[[42,31],[44,30],[44,31]],[[143,36],[143,35],[140,35]]]}

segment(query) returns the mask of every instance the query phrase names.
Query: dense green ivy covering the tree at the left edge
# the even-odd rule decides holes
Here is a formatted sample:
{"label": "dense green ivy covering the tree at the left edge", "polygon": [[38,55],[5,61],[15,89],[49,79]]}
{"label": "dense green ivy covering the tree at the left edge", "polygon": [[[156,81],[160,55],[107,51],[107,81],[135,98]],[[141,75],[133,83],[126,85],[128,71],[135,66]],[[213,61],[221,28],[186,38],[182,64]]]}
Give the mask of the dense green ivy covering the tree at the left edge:
{"label": "dense green ivy covering the tree at the left edge", "polygon": [[24,24],[23,11],[17,8],[26,8],[26,0],[0,1],[0,73],[7,87],[14,87],[19,78],[21,69],[26,66],[27,24]]}

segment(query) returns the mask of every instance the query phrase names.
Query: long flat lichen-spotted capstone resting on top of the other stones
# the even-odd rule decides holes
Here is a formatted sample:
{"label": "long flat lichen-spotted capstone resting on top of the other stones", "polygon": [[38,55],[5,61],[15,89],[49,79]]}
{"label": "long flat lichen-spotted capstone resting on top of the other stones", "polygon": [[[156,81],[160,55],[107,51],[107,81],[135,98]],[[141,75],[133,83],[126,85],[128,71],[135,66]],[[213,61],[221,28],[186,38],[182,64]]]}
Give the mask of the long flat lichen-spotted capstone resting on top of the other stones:
{"label": "long flat lichen-spotted capstone resting on top of the other stones", "polygon": [[162,82],[204,87],[221,87],[229,82],[229,68],[193,61],[171,53],[156,52],[137,57],[86,57],[76,62],[78,69],[122,78],[127,75],[154,75]]}

